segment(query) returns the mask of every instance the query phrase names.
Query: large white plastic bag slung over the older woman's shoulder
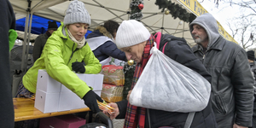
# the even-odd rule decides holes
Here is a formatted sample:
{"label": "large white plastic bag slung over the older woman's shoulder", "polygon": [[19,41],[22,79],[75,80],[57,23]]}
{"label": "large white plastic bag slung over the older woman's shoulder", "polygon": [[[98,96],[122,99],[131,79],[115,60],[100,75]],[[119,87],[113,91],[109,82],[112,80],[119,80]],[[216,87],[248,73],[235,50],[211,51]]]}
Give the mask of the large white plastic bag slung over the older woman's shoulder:
{"label": "large white plastic bag slung over the older woman's shoulder", "polygon": [[152,55],[131,91],[131,105],[183,113],[207,107],[211,93],[207,79],[155,47],[150,53]]}

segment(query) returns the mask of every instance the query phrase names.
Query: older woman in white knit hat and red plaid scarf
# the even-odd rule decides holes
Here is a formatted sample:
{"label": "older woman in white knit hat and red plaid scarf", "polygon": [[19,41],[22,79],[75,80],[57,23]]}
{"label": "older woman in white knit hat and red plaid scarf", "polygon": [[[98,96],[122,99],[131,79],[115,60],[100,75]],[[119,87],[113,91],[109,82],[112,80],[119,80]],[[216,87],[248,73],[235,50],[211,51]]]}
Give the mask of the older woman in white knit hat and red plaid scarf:
{"label": "older woman in white knit hat and red plaid scarf", "polygon": [[[137,79],[139,79],[141,73],[143,73],[143,68],[148,62],[150,49],[154,46],[154,37],[141,22],[138,22],[137,20],[124,20],[117,31],[116,44],[119,49],[125,52],[127,60],[137,61],[137,67],[131,85],[132,90],[137,83]],[[207,73],[206,68],[202,65],[201,61],[195,57],[189,45],[183,38],[161,34],[159,48],[160,51],[164,49],[164,54],[172,58],[172,60],[200,73],[201,76],[208,81],[211,80],[211,76]],[[153,77],[157,77],[156,74],[152,74],[152,78]],[[125,128],[159,128],[161,126],[184,127],[189,113],[167,112],[133,106],[128,101],[131,90],[129,91],[126,101],[109,103],[111,107],[115,108],[115,113],[109,115],[111,119],[125,118]],[[104,113],[106,112],[104,111]],[[208,103],[207,108],[195,113],[195,118],[190,127],[217,127],[214,114],[212,113],[211,102]]]}

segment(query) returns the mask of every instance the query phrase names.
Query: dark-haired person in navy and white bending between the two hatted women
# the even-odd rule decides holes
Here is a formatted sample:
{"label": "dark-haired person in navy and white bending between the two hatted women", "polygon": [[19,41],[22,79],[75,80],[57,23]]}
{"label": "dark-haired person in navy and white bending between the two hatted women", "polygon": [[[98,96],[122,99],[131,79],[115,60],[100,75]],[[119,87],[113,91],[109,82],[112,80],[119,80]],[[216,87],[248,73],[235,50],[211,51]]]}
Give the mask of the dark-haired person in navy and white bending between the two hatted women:
{"label": "dark-haired person in navy and white bending between the two hatted women", "polygon": [[118,22],[107,20],[103,26],[96,27],[95,31],[87,36],[86,41],[102,66],[109,65],[111,57],[120,61],[127,61],[125,53],[114,44],[118,28]]}

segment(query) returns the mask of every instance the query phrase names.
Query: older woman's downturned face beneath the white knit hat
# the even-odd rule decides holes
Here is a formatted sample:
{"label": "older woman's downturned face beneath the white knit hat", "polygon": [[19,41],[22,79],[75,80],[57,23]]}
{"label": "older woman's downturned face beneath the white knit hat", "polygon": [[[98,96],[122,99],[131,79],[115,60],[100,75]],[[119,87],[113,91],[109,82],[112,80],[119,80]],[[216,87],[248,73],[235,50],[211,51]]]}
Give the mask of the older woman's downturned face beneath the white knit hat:
{"label": "older woman's downturned face beneath the white knit hat", "polygon": [[123,48],[122,50],[125,52],[125,56],[127,60],[134,60],[137,63],[142,61],[143,58],[143,51],[144,47],[146,45],[147,41],[141,43],[141,44],[136,44],[131,47],[126,47]]}

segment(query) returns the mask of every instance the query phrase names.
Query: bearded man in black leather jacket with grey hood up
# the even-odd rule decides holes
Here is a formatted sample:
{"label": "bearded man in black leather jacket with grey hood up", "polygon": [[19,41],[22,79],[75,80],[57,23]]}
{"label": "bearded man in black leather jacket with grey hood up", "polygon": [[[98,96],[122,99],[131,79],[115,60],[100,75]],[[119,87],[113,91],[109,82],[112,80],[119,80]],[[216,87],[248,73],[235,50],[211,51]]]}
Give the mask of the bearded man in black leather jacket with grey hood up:
{"label": "bearded man in black leather jacket with grey hood up", "polygon": [[192,50],[212,75],[212,109],[218,127],[251,126],[253,76],[246,51],[220,36],[210,14],[197,17],[189,29],[197,43]]}

